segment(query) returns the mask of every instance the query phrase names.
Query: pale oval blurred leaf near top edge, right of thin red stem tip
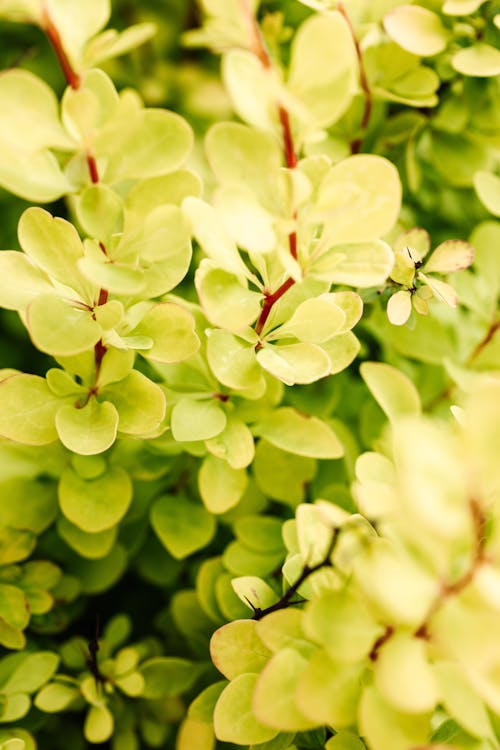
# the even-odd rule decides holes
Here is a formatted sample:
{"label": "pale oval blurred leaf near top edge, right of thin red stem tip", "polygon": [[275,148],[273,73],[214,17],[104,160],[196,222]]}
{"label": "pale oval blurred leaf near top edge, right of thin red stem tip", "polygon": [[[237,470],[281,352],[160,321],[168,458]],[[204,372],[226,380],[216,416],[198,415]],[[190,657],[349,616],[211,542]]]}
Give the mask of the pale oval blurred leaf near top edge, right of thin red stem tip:
{"label": "pale oval blurred leaf near top edge, right of thin red stem tip", "polygon": [[443,52],[449,34],[437,13],[420,5],[400,5],[384,18],[384,28],[403,49],[420,57]]}

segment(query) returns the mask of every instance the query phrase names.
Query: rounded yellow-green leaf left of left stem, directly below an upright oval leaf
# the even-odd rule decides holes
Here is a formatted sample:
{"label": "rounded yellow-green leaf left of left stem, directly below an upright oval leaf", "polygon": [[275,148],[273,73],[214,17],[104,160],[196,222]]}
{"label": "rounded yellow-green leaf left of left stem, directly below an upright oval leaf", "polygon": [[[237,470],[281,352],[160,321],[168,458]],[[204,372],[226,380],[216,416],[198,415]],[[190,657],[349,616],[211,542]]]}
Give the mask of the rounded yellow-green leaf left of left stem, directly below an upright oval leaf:
{"label": "rounded yellow-green leaf left of left stem, directly below an upright oval leaf", "polygon": [[27,327],[35,346],[54,357],[88,351],[102,333],[90,310],[82,310],[54,294],[40,294],[30,303]]}

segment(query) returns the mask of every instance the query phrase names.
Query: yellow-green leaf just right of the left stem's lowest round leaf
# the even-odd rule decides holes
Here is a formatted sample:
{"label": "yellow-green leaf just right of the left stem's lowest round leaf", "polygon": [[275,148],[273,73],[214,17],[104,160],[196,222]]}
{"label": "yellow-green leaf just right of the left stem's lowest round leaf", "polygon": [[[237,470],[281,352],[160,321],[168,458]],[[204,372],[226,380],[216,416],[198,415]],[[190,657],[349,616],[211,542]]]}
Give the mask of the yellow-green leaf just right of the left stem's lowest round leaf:
{"label": "yellow-green leaf just right of the left stem's lowest round leaf", "polygon": [[126,435],[154,432],[165,416],[165,395],[160,386],[137,370],[101,389],[100,395],[114,405],[119,416],[118,430]]}

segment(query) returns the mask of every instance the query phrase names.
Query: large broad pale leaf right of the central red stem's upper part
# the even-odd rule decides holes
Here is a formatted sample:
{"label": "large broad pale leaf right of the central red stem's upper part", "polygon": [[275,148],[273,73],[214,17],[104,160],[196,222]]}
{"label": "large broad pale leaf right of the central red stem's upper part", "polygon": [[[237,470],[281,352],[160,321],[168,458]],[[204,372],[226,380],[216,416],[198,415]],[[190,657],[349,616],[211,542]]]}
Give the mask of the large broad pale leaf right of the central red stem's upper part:
{"label": "large broad pale leaf right of the central red stem's upper part", "polygon": [[325,222],[321,246],[326,250],[383,236],[394,226],[400,205],[401,182],[394,165],[380,156],[358,154],[327,172],[310,220]]}

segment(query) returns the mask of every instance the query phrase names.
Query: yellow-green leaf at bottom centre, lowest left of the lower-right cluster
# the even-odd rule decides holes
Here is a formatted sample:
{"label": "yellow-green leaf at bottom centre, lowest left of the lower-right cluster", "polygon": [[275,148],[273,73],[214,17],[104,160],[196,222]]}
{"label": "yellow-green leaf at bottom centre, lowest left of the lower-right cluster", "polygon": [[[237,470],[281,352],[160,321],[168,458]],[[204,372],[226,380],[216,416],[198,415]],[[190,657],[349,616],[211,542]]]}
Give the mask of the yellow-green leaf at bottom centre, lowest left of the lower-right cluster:
{"label": "yellow-green leaf at bottom centre, lowest left of the lower-right cluster", "polygon": [[240,674],[222,691],[214,711],[214,729],[219,740],[248,745],[276,736],[277,731],[261,724],[253,713],[256,682],[256,674]]}

